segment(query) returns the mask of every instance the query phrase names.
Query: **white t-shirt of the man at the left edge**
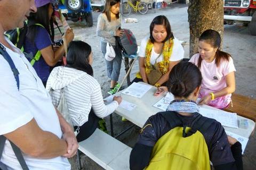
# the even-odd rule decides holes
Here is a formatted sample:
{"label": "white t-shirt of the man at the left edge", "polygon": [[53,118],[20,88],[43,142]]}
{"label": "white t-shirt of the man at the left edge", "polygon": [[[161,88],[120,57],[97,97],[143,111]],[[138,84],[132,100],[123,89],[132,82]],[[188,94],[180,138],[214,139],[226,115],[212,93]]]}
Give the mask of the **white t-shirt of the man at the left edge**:
{"label": "white t-shirt of the man at the left edge", "polygon": [[[12,43],[9,41],[9,44]],[[13,49],[15,52],[6,48],[6,52],[11,56],[19,71],[20,90],[18,91],[11,67],[0,55],[0,135],[12,132],[35,118],[42,130],[52,132],[61,138],[59,119],[50,95],[46,92],[42,81],[27,58],[18,48],[13,46]],[[37,159],[26,154],[23,156],[30,170],[71,168],[68,159],[64,157]],[[9,169],[21,169],[9,141],[5,143],[1,162]]]}

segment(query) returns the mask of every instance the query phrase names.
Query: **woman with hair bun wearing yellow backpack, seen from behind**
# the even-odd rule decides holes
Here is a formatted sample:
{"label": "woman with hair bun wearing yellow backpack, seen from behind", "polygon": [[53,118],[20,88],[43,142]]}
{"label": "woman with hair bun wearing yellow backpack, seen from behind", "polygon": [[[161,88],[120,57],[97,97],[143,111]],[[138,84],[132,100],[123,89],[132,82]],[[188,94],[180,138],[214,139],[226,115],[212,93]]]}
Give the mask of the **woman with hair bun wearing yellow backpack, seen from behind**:
{"label": "woman with hair bun wearing yellow backpack, seen from behind", "polygon": [[[202,74],[193,63],[180,62],[172,68],[167,87],[160,89],[171,92],[174,100],[166,112],[150,116],[141,129],[130,155],[131,170],[210,169],[209,160],[215,170],[243,169],[241,143],[227,137],[219,122],[198,113],[195,101],[201,82]],[[195,161],[184,163],[184,157]]]}

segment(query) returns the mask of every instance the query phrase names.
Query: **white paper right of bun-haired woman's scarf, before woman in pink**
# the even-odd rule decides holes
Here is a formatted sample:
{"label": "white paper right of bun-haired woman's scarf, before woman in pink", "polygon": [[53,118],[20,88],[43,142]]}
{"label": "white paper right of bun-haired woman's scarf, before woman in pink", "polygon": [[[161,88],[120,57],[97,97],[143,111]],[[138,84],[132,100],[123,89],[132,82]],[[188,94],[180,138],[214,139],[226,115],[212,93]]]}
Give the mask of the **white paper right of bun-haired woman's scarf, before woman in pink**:
{"label": "white paper right of bun-haired woman's scarf, before woman in pink", "polygon": [[205,117],[213,118],[220,122],[223,126],[230,128],[238,128],[236,113],[225,112],[217,109],[199,108],[199,113]]}

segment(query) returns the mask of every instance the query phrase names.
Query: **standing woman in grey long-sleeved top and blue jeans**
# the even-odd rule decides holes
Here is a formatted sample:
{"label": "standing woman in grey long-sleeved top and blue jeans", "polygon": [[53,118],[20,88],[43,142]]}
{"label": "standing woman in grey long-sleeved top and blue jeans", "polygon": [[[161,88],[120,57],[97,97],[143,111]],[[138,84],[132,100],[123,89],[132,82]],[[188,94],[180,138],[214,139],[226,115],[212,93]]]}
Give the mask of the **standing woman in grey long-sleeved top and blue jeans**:
{"label": "standing woman in grey long-sleeved top and blue jeans", "polygon": [[[106,54],[106,46],[109,43],[113,46],[116,56],[112,61],[105,59],[107,64],[108,78],[110,78],[110,89],[108,94],[113,95],[119,88],[119,83],[117,83],[121,64],[122,64],[122,53],[121,49],[116,46],[116,38],[122,37],[123,30],[121,28],[121,21],[119,19],[119,7],[120,0],[106,0],[105,9],[98,17],[97,23],[97,35],[101,37],[100,47],[103,57]],[[115,88],[116,87],[116,88]]]}

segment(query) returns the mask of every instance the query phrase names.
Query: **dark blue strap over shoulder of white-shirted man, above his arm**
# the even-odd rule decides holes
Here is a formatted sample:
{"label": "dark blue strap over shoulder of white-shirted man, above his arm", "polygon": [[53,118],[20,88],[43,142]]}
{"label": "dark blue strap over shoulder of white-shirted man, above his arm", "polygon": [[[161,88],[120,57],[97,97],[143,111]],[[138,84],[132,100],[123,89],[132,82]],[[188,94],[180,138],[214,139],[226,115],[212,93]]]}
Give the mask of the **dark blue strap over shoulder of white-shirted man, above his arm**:
{"label": "dark blue strap over shoulder of white-shirted man, above his arm", "polygon": [[16,69],[13,61],[12,61],[12,58],[10,57],[10,55],[6,52],[5,50],[5,47],[0,44],[0,54],[4,57],[4,59],[8,62],[8,64],[10,65],[11,69],[12,69],[12,72],[13,72],[13,75],[14,75],[14,78],[17,82],[17,87],[18,87],[18,90],[20,89],[20,79],[19,79],[19,71]]}

